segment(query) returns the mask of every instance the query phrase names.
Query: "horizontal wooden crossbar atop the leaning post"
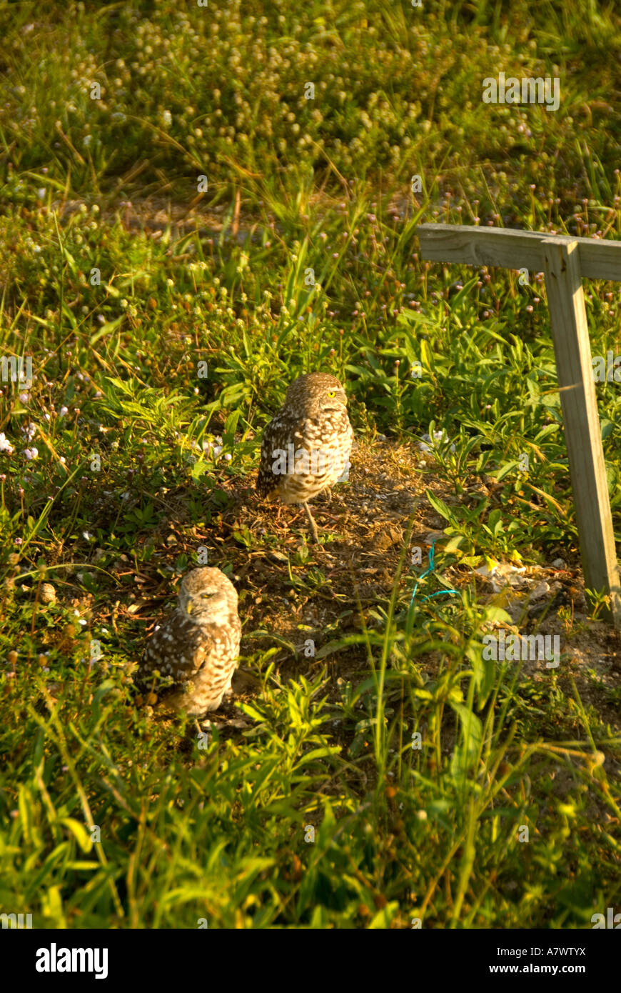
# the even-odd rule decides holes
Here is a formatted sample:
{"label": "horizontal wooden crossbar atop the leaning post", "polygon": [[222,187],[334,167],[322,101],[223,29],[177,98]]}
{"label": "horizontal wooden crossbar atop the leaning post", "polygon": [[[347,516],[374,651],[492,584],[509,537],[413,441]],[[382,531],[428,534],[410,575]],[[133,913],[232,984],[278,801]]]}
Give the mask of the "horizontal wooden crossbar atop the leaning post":
{"label": "horizontal wooden crossbar atop the leaning post", "polygon": [[423,257],[432,262],[497,265],[531,272],[545,271],[544,242],[548,238],[567,244],[577,241],[581,276],[621,281],[621,241],[467,224],[419,224],[417,235]]}

